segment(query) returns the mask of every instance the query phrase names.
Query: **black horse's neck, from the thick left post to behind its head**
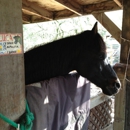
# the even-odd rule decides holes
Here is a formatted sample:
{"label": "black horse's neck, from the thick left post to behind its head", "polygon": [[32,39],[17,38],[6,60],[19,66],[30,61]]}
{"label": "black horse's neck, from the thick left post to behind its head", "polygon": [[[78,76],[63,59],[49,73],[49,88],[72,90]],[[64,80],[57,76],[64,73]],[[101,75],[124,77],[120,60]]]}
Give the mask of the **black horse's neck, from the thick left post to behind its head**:
{"label": "black horse's neck, from the thick left post to behind its head", "polygon": [[79,37],[54,41],[25,53],[26,84],[65,75],[75,69]]}

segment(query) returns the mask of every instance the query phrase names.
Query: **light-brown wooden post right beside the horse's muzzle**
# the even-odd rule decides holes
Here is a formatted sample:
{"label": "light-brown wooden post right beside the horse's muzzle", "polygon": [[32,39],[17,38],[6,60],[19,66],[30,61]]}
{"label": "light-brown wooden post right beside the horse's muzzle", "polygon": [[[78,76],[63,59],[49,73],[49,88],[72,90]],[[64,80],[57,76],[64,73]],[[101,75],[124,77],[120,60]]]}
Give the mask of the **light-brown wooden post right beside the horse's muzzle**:
{"label": "light-brown wooden post right beside the horse's muzzle", "polygon": [[126,64],[118,63],[113,68],[116,71],[120,81],[121,81],[121,90],[115,96],[115,109],[114,109],[114,124],[113,130],[125,130],[124,121],[125,121],[125,94],[126,94],[126,82],[124,81]]}

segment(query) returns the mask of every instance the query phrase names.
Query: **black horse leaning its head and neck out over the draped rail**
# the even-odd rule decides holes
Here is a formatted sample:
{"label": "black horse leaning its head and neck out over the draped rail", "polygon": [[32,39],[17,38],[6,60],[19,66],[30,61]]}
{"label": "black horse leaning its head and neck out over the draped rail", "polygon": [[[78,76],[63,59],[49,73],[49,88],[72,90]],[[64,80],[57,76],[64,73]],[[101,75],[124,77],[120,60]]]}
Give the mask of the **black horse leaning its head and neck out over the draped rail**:
{"label": "black horse leaning its head and neck out over the draped rail", "polygon": [[24,54],[24,59],[26,85],[76,70],[106,95],[120,89],[117,75],[105,61],[106,45],[97,32],[97,23],[91,31],[32,49]]}

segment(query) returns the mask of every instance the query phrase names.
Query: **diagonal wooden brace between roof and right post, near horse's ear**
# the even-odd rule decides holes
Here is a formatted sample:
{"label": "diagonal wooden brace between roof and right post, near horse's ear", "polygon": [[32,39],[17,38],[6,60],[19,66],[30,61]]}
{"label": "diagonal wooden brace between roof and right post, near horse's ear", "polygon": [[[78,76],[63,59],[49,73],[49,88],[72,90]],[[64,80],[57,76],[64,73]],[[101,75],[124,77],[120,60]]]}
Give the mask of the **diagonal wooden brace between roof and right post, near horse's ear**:
{"label": "diagonal wooden brace between roof and right post, near horse's ear", "polygon": [[120,43],[121,30],[104,14],[97,13],[93,16],[108,30],[108,32]]}

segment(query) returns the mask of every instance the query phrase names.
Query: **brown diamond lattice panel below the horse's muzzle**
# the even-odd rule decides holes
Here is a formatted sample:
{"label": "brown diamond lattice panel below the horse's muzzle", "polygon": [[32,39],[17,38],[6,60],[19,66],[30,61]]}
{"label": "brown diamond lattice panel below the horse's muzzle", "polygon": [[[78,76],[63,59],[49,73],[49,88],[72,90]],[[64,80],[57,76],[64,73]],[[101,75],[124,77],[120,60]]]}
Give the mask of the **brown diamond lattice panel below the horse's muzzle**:
{"label": "brown diamond lattice panel below the horse's muzzle", "polygon": [[90,110],[88,130],[101,130],[112,121],[112,100],[108,99]]}

